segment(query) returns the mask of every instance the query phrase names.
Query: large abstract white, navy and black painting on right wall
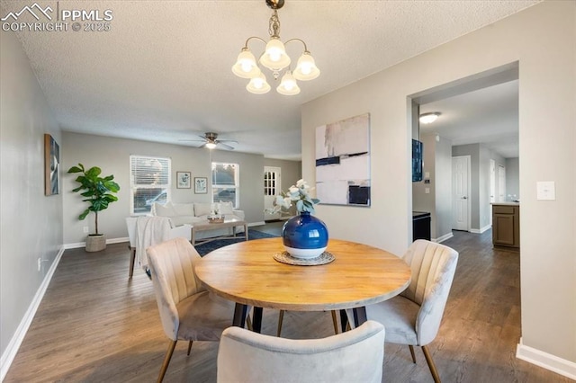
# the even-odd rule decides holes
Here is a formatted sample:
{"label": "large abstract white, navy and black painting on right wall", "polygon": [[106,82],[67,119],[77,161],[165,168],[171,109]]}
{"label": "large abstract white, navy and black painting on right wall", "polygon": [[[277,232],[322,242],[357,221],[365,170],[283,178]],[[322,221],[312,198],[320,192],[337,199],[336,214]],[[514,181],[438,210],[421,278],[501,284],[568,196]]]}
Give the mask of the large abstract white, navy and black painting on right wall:
{"label": "large abstract white, navy and black painting on right wall", "polygon": [[316,128],[316,196],[321,204],[370,206],[370,114]]}

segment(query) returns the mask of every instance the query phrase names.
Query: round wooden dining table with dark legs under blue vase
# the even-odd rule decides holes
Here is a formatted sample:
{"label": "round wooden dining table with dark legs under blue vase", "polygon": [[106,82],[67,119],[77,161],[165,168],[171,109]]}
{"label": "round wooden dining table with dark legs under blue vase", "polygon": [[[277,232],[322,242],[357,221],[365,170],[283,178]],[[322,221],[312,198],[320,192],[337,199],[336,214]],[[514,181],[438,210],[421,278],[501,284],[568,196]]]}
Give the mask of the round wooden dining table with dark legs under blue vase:
{"label": "round wooden dining table with dark legs under blue vase", "polygon": [[253,328],[260,330],[262,308],[292,311],[352,308],[356,325],[365,306],[401,293],[410,284],[410,266],[385,250],[329,239],[330,263],[293,265],[275,260],[282,238],[255,239],[220,247],[195,266],[206,289],[236,302],[233,325],[244,326],[247,307],[255,307]]}

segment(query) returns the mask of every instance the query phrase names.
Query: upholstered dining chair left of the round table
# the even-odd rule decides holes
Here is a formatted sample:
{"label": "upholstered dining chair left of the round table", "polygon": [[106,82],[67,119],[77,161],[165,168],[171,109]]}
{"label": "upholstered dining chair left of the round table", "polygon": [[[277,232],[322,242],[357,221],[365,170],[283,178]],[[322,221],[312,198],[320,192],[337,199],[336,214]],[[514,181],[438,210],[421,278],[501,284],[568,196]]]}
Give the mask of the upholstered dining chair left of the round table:
{"label": "upholstered dining chair left of the round table", "polygon": [[219,341],[222,331],[232,325],[235,305],[202,287],[194,272],[201,257],[185,238],[150,246],[147,253],[160,319],[170,340],[160,382],[177,341],[189,341],[188,355],[193,341]]}

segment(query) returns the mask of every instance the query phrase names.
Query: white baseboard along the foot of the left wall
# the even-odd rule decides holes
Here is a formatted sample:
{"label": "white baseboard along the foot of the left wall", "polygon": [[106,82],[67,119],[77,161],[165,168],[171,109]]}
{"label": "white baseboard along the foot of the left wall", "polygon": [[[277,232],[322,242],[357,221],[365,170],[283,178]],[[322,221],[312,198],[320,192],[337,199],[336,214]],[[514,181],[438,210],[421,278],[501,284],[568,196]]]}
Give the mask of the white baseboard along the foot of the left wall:
{"label": "white baseboard along the foot of the left wall", "polygon": [[42,298],[44,298],[44,293],[46,293],[46,289],[48,289],[48,285],[52,280],[52,276],[56,271],[56,267],[60,262],[60,258],[62,258],[62,254],[64,254],[64,250],[65,250],[64,246],[61,246],[58,251],[58,254],[56,254],[54,262],[50,266],[48,272],[44,276],[44,280],[42,281],[40,287],[36,291],[34,298],[32,298],[31,304],[26,310],[26,313],[24,314],[22,321],[20,321],[20,325],[18,325],[18,328],[16,329],[14,335],[12,336],[12,339],[10,339],[10,343],[8,343],[8,346],[2,353],[2,357],[0,358],[0,381],[3,381],[4,378],[6,377],[6,374],[8,373],[8,370],[10,369],[10,366],[14,361],[16,353],[18,352],[18,349],[20,349],[20,345],[24,340],[24,336],[28,332],[28,328],[32,323],[32,319],[34,319],[34,316],[36,315],[36,311],[40,306]]}

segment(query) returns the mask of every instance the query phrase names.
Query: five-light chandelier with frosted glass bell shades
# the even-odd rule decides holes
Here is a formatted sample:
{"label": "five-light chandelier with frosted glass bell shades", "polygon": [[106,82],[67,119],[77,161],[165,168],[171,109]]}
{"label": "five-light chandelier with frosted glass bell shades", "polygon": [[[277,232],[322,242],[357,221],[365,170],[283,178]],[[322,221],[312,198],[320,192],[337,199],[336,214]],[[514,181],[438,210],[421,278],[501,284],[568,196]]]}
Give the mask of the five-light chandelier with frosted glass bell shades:
{"label": "five-light chandelier with frosted glass bell shades", "polygon": [[[263,67],[270,69],[275,80],[278,80],[281,72],[286,68],[284,76],[282,76],[282,79],[280,80],[280,85],[276,87],[276,91],[279,94],[285,95],[299,94],[300,87],[296,80],[313,80],[320,76],[320,69],[316,67],[314,58],[312,58],[304,41],[300,39],[291,39],[283,43],[282,40],[280,40],[280,20],[278,19],[277,10],[283,7],[284,0],[266,0],[266,5],[273,9],[268,27],[270,40],[266,42],[266,40],[257,36],[249,37],[244,44],[244,48],[242,48],[242,51],[238,55],[236,64],[232,67],[232,72],[238,77],[250,79],[250,82],[246,85],[248,92],[253,94],[266,94],[270,91],[270,85],[266,81],[266,76],[260,67],[258,67],[257,63],[259,62]],[[266,44],[266,49],[258,61],[248,48],[248,42],[253,39],[260,40]],[[298,59],[298,63],[292,71],[290,68],[292,60],[288,54],[286,54],[284,46],[293,41],[302,42],[304,52]]]}

